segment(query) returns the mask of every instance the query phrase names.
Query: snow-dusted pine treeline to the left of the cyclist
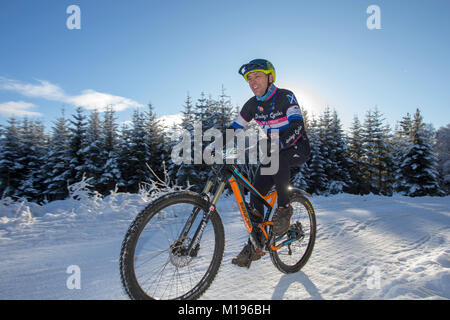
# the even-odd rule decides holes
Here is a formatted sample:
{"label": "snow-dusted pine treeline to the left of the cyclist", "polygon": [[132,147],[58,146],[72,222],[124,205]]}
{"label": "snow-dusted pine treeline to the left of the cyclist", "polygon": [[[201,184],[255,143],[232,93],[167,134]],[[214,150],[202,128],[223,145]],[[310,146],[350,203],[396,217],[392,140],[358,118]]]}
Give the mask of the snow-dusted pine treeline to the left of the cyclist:
{"label": "snow-dusted pine treeline to the left of the cyclist", "polygon": [[[217,99],[202,93],[195,105],[188,95],[183,109],[181,126],[187,129],[195,121],[206,129],[225,128],[236,115],[225,89]],[[171,162],[179,130],[180,126],[163,127],[151,104],[145,111],[135,110],[131,121],[120,127],[112,107],[89,115],[78,107],[70,117],[63,110],[49,134],[38,120],[10,118],[0,127],[0,198],[65,199],[68,186],[83,176],[103,195],[116,187],[138,192],[150,179],[156,180],[153,172],[158,177],[167,173],[184,186],[200,183],[198,172]]]}

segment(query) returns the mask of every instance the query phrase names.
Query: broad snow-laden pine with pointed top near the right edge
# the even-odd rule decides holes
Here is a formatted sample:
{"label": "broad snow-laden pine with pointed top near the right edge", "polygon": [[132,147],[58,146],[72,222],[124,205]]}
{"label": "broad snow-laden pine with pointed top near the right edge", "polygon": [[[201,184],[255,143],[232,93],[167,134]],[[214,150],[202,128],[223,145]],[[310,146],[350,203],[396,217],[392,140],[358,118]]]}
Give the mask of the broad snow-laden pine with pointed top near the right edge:
{"label": "broad snow-laden pine with pointed top near the right edge", "polygon": [[410,132],[412,144],[401,158],[397,175],[401,181],[400,191],[411,197],[444,194],[439,188],[437,158],[423,128],[423,119],[417,109]]}

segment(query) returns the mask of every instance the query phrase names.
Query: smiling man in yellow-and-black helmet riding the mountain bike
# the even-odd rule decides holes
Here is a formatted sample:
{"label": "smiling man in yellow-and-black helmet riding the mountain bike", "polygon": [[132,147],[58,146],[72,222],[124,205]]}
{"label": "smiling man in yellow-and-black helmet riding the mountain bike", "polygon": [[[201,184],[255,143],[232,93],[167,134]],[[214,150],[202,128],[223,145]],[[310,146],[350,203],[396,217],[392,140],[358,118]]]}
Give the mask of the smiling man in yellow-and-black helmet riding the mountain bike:
{"label": "smiling man in yellow-and-black helmet riding the mountain bike", "polygon": [[[254,96],[242,107],[238,117],[233,122],[235,130],[245,129],[254,119],[266,132],[269,139],[278,139],[279,169],[274,175],[261,174],[261,165],[256,173],[254,187],[263,195],[267,194],[273,185],[278,194],[278,207],[272,221],[273,234],[281,236],[288,231],[293,209],[289,203],[288,185],[290,168],[305,163],[310,155],[309,140],[306,135],[303,117],[294,93],[277,88],[275,68],[265,59],[255,59],[244,64],[239,69],[248,82]],[[273,131],[273,132],[272,132]],[[266,164],[268,166],[269,164]],[[264,206],[252,195],[250,204],[254,208],[250,212],[252,224],[263,221]],[[261,234],[261,237],[264,237]],[[264,252],[255,247],[251,240],[232,260],[240,267],[250,267],[252,261],[259,260]]]}

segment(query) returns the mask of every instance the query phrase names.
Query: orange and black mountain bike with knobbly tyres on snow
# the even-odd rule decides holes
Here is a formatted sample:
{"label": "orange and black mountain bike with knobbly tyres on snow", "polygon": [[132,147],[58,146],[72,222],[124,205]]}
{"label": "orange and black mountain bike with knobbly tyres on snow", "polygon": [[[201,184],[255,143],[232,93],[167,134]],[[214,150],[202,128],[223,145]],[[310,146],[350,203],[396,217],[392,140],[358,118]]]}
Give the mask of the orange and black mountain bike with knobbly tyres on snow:
{"label": "orange and black mountain bike with knobbly tyres on snow", "polygon": [[[227,183],[251,241],[270,254],[275,267],[294,273],[306,264],[316,237],[309,194],[290,187],[294,208],[291,225],[284,235],[275,237],[271,217],[276,190],[264,196],[237,166],[223,164],[212,167],[201,193],[186,190],[165,194],[148,204],[131,223],[120,254],[121,280],[131,299],[197,299],[208,289],[225,248],[224,226],[216,205]],[[252,224],[245,191],[264,204],[262,223]],[[264,243],[258,232],[264,234]]]}

